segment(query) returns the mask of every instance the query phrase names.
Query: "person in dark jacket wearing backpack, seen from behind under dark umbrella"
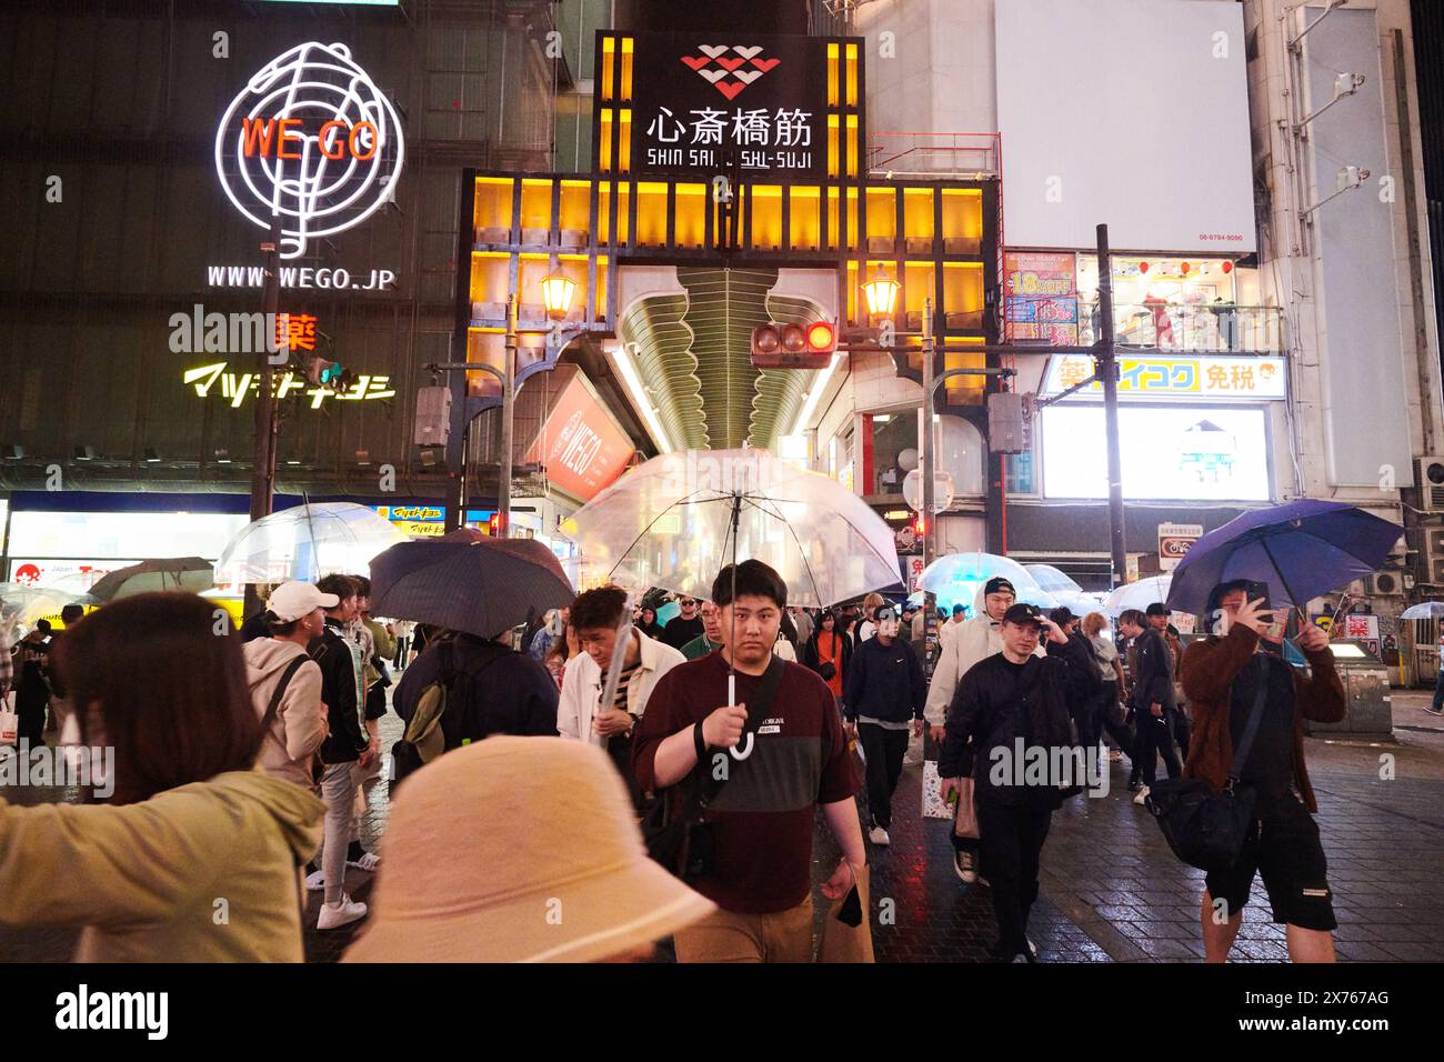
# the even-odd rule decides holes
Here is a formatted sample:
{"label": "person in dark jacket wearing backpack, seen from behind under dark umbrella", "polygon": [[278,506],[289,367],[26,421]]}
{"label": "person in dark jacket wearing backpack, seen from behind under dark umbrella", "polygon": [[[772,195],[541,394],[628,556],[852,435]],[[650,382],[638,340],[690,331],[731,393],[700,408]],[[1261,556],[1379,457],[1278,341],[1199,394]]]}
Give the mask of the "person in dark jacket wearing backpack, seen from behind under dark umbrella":
{"label": "person in dark jacket wearing backpack, seen from behind under dark umbrella", "polygon": [[391,708],[407,724],[391,746],[396,776],[436,756],[494,734],[556,734],[557,688],[552,675],[503,639],[436,630],[396,686]]}

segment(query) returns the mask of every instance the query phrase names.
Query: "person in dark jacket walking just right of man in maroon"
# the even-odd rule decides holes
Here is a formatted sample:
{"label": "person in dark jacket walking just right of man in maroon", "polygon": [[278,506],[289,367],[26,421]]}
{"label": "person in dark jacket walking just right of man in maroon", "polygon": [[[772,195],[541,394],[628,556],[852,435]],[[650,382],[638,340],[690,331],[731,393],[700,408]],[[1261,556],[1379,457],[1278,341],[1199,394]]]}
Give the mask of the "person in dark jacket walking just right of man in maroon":
{"label": "person in dark jacket walking just right of man in maroon", "polygon": [[927,679],[913,647],[898,637],[898,620],[891,607],[878,610],[878,633],[852,650],[846,676],[843,717],[848,733],[862,741],[868,761],[868,809],[872,822],[868,839],[891,842],[892,793],[902,774],[907,731],[923,735],[923,705]]}

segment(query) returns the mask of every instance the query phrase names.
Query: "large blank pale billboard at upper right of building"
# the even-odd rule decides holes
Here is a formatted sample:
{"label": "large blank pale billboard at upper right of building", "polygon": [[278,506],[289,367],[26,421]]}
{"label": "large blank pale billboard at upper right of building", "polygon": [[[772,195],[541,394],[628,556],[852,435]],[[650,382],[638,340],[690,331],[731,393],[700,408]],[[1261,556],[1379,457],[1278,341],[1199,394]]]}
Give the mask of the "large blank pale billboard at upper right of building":
{"label": "large blank pale billboard at upper right of building", "polygon": [[1243,4],[996,0],[1009,247],[1256,250]]}

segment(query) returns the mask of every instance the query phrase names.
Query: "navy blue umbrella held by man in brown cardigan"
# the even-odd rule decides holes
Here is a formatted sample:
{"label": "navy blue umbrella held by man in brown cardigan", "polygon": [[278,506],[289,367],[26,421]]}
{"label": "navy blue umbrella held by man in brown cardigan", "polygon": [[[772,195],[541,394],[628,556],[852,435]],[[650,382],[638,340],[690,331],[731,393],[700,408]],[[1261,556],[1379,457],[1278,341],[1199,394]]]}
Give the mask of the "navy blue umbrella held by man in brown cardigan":
{"label": "navy blue umbrella held by man in brown cardigan", "polygon": [[1253,579],[1269,604],[1302,608],[1310,598],[1372,575],[1404,529],[1341,501],[1258,509],[1204,535],[1174,569],[1168,608],[1201,616],[1220,582]]}

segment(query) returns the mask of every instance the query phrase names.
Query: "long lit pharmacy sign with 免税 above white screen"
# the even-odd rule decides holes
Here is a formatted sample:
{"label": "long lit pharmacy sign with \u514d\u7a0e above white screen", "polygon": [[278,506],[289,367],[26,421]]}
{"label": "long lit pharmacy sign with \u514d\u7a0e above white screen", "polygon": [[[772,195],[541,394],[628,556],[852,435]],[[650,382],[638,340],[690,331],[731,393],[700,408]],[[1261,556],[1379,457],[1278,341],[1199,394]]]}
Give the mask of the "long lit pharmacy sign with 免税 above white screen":
{"label": "long lit pharmacy sign with \u514d\u7a0e above white screen", "polygon": [[[1284,358],[1171,358],[1121,357],[1119,394],[1141,399],[1226,399],[1258,402],[1282,399]],[[1043,377],[1043,394],[1057,394],[1093,374],[1086,354],[1058,354]],[[1102,384],[1092,383],[1080,394],[1102,397]]]}

